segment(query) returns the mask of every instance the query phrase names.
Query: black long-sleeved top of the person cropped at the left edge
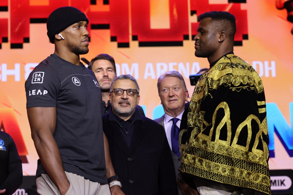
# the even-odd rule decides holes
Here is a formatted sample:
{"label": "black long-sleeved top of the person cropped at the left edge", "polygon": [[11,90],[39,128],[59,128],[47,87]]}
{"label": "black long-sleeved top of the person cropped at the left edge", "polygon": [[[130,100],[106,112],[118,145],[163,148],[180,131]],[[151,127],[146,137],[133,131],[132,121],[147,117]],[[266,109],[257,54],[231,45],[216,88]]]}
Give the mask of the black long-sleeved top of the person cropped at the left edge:
{"label": "black long-sleeved top of the person cropped at the left edge", "polygon": [[15,143],[8,133],[0,131],[0,190],[12,194],[22,183],[22,165]]}

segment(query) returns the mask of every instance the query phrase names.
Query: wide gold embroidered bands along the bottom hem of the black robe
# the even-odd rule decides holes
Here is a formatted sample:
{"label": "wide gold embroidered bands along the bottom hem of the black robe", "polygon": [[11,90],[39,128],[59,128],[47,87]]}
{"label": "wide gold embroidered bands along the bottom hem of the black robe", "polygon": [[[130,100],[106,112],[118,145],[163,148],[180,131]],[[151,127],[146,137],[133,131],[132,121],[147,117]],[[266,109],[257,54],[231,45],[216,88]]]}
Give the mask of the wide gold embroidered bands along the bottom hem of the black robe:
{"label": "wide gold embroidered bands along the bottom hem of the black robe", "polygon": [[[198,150],[198,147],[188,146],[187,150],[195,155],[183,155],[182,162],[185,166],[180,166],[181,171],[194,172],[195,175],[204,176],[206,179],[250,187],[264,193],[270,191],[269,169],[265,156],[257,156],[248,151],[207,140],[198,139],[197,144],[205,149]],[[229,165],[229,161],[234,162],[233,166]],[[260,163],[262,166],[251,166],[253,163]]]}

